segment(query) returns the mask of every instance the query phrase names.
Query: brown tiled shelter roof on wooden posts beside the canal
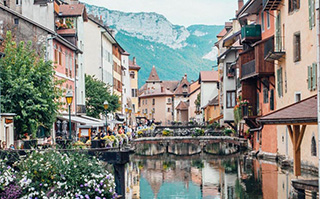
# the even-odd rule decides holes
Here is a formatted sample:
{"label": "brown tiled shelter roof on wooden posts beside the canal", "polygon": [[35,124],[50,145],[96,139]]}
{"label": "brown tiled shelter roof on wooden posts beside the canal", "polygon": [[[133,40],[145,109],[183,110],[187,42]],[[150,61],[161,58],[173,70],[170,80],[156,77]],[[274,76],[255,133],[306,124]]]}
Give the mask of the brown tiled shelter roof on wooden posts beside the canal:
{"label": "brown tiled shelter roof on wooden posts beside the canal", "polygon": [[317,122],[317,95],[293,103],[257,119],[262,124],[299,124]]}

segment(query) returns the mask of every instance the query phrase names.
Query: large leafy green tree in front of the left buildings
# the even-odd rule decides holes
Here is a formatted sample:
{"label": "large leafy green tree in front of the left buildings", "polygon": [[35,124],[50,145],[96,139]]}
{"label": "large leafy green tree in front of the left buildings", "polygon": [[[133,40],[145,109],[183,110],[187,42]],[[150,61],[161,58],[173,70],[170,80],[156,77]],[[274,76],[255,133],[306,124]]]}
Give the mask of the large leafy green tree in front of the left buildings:
{"label": "large leafy green tree in front of the left buildings", "polygon": [[1,110],[16,114],[18,138],[25,133],[36,137],[39,127],[48,135],[61,105],[62,90],[57,87],[61,81],[54,78],[52,62],[44,61],[31,46],[31,42],[16,44],[8,31],[5,57],[0,59]]}

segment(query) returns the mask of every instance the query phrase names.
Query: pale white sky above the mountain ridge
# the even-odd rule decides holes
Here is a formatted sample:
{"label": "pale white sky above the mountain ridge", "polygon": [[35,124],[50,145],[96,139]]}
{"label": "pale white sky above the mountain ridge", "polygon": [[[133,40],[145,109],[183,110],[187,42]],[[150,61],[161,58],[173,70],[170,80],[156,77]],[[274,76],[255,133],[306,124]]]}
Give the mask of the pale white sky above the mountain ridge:
{"label": "pale white sky above the mountain ridge", "polygon": [[156,12],[175,25],[223,25],[235,17],[238,0],[82,0],[123,12]]}

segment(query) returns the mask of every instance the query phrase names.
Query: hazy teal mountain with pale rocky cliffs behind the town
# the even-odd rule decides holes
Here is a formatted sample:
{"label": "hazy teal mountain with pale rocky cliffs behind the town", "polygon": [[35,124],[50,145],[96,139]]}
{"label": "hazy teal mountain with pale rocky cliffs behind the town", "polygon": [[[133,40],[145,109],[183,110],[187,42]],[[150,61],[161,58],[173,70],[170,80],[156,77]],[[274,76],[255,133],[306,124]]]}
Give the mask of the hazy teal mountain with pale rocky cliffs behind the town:
{"label": "hazy teal mountain with pale rocky cliffs behind the town", "polygon": [[219,25],[173,25],[157,13],[125,13],[86,4],[87,12],[101,16],[115,30],[119,44],[137,58],[141,66],[139,86],[156,66],[160,79],[180,80],[185,73],[197,80],[199,71],[211,70],[216,64],[216,35]]}

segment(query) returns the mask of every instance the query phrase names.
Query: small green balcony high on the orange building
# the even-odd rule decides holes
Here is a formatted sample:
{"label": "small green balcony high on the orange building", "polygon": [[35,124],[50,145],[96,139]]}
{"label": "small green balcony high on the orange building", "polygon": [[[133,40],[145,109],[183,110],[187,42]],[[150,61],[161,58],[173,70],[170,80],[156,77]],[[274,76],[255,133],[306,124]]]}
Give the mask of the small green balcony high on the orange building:
{"label": "small green balcony high on the orange building", "polygon": [[245,25],[241,28],[241,42],[255,43],[261,40],[261,25]]}

